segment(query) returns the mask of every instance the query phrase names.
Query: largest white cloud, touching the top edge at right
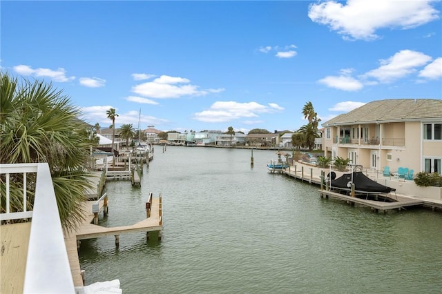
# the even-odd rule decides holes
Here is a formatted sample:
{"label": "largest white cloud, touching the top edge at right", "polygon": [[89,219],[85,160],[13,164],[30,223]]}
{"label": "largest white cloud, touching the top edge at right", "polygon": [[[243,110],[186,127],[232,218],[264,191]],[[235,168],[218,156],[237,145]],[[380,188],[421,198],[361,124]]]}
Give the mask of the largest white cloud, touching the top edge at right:
{"label": "largest white cloud, touching the top edge at right", "polygon": [[309,6],[309,18],[329,26],[345,38],[377,39],[380,28],[408,29],[439,19],[439,11],[432,7],[432,0],[348,0],[313,3]]}

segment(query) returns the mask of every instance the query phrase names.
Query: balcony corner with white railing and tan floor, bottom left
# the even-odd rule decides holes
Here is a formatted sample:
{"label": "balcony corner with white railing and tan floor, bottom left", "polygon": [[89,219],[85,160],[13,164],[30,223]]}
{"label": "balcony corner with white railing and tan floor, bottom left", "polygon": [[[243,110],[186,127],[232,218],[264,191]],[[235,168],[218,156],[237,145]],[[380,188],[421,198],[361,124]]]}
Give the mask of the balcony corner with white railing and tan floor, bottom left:
{"label": "balcony corner with white railing and tan floor, bottom left", "polygon": [[[11,208],[14,195],[11,193],[11,181],[17,177],[23,179],[24,186],[30,185],[32,183],[26,183],[30,179],[30,173],[37,173],[33,210],[26,208],[30,200],[26,190],[22,191],[19,202],[23,206]],[[1,200],[6,203],[5,210],[0,213],[2,242],[18,244],[17,248],[26,248],[28,244],[27,257],[22,256],[22,266],[17,266],[18,257],[14,254],[14,248],[8,249],[10,254],[5,251],[3,255],[2,252],[1,267],[2,270],[6,268],[6,273],[3,272],[1,277],[2,291],[9,290],[9,293],[12,289],[21,289],[23,293],[75,293],[48,164],[0,164],[0,176]],[[30,224],[30,231],[15,231],[8,236],[3,235],[10,227],[21,225],[9,224],[14,219],[30,219],[30,223],[21,223]],[[3,240],[7,237],[10,240]],[[17,284],[11,285],[10,280],[3,280],[3,277],[6,279],[6,275],[11,274],[21,277],[15,279]],[[8,289],[7,286],[12,288]]]}

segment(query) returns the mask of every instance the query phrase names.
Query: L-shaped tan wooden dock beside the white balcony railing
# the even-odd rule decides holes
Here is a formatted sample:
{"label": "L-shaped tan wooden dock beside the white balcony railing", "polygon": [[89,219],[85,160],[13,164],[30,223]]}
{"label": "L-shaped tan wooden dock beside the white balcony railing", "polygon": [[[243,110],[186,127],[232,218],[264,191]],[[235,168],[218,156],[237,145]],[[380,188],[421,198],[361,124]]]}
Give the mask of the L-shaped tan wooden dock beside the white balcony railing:
{"label": "L-shaped tan wooden dock beside the white balcony railing", "polygon": [[[129,226],[117,226],[106,228],[91,224],[94,220],[93,204],[97,202],[84,202],[84,221],[76,231],[65,233],[66,251],[70,263],[70,271],[72,272],[74,285],[84,286],[84,275],[81,274],[79,264],[78,249],[81,239],[92,239],[109,235],[115,236],[115,245],[119,246],[119,235],[136,232],[158,231],[158,238],[161,239],[162,232],[162,198],[153,198],[149,195],[148,204],[146,203],[146,219],[141,222]],[[99,201],[99,210],[104,210],[104,201]],[[148,209],[147,209],[148,208]]]}

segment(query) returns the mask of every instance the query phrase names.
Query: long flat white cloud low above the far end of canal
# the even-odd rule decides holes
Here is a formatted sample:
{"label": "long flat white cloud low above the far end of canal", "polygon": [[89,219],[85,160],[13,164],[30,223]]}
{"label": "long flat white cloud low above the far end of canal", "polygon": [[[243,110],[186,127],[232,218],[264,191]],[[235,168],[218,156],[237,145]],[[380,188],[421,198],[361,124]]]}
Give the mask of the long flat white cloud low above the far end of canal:
{"label": "long flat white cloud low above the far end of canal", "polygon": [[[270,107],[256,102],[216,101],[209,110],[196,112],[194,119],[204,122],[226,122],[233,119],[258,117],[260,113],[271,113],[281,110],[278,104],[269,104]],[[282,108],[283,109],[283,108]]]}

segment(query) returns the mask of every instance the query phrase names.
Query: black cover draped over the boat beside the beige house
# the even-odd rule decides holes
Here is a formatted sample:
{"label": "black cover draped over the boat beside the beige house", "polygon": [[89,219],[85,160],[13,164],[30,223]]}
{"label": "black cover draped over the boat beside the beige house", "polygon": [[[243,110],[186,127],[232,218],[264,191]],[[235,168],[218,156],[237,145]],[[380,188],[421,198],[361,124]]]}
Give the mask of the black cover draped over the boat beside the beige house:
{"label": "black cover draped over the boat beside the beige house", "polygon": [[[331,186],[332,188],[351,188],[352,183],[352,173],[345,173],[341,177],[332,180]],[[379,184],[378,182],[374,182],[369,177],[364,175],[362,172],[353,172],[353,183],[355,186],[355,190],[364,191],[364,192],[378,192],[378,193],[390,193],[390,191],[394,191],[394,188],[390,188]]]}

